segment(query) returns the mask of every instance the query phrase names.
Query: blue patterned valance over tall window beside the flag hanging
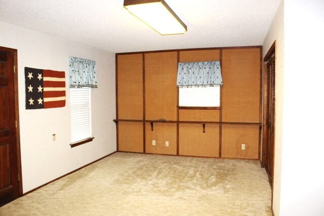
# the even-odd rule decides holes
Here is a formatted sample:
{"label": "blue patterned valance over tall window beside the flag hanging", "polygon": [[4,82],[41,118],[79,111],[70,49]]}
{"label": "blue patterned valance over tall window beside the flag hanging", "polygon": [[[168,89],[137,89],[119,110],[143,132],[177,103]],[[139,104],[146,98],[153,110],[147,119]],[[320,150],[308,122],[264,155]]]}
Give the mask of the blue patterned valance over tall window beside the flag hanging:
{"label": "blue patterned valance over tall window beside the flag hanging", "polygon": [[69,57],[70,88],[98,88],[96,62]]}

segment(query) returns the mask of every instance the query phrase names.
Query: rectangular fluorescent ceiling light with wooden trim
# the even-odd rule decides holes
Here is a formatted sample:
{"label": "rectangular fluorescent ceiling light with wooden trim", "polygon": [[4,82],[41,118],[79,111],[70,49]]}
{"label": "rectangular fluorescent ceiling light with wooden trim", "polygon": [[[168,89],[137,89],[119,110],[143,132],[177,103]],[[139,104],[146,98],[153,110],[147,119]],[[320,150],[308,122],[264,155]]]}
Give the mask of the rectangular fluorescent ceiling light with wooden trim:
{"label": "rectangular fluorescent ceiling light with wooden trim", "polygon": [[187,26],[164,0],[124,0],[124,7],[161,35],[187,31]]}

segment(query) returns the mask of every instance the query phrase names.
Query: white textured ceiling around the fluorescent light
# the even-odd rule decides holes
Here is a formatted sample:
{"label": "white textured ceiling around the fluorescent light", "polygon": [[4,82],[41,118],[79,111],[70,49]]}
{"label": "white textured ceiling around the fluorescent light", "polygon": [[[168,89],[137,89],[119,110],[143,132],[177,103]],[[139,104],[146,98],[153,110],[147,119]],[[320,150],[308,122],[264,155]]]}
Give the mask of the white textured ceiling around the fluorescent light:
{"label": "white textured ceiling around the fluorescent light", "polygon": [[280,2],[165,1],[187,25],[185,34],[159,35],[124,9],[124,0],[0,0],[0,20],[112,53],[256,46]]}

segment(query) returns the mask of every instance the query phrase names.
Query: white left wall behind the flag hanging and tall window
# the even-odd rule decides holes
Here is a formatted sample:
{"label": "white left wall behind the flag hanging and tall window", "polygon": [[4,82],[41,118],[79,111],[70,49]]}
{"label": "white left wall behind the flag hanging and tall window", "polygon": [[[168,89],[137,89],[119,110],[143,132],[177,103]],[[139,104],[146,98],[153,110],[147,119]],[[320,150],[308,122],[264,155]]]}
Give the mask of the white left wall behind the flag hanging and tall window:
{"label": "white left wall behind the flag hanging and tall window", "polygon": [[[0,46],[18,50],[20,144],[23,192],[32,190],[116,150],[115,56],[106,51],[0,22]],[[92,89],[95,139],[70,148],[68,57],[96,61],[98,89]],[[24,67],[65,71],[66,106],[25,109]],[[56,141],[52,141],[56,134]]]}

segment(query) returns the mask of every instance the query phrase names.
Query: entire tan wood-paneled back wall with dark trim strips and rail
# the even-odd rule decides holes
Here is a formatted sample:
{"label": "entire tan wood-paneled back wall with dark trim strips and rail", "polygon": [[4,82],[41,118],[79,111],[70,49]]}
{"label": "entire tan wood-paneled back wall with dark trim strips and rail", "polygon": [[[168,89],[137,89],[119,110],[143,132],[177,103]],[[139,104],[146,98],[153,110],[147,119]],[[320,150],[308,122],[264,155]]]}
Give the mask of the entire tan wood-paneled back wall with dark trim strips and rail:
{"label": "entire tan wood-paneled back wall with dark trim strips and rail", "polygon": [[[261,49],[243,47],[116,54],[117,149],[258,159]],[[197,61],[221,61],[224,86],[221,88],[221,105],[217,109],[178,107],[178,62]],[[171,122],[153,122],[151,125],[150,120],[158,119]],[[213,123],[203,127],[205,121]],[[155,146],[152,140],[155,140]],[[241,150],[241,144],[245,144],[245,150]]]}

